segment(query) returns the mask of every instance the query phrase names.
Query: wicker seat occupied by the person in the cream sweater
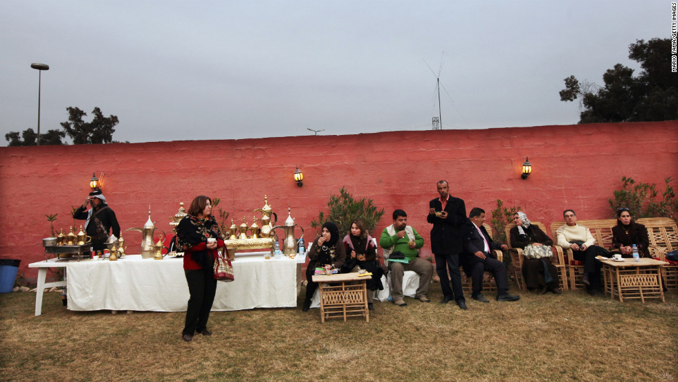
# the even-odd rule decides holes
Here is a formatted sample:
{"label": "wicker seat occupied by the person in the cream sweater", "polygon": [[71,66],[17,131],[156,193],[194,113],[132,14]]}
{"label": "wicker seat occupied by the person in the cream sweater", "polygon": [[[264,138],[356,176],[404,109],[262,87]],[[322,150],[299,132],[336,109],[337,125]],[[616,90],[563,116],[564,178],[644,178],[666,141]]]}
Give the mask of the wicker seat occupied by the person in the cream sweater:
{"label": "wicker seat occupied by the person in the cream sweater", "polygon": [[[612,227],[616,226],[616,219],[602,219],[602,220],[578,220],[577,224],[589,228],[589,232],[596,240],[596,245],[603,248],[612,247]],[[567,266],[569,273],[570,289],[584,288],[581,278],[584,275],[584,264],[574,260],[572,257],[572,250],[570,248],[562,248],[558,245],[558,235],[556,230],[560,226],[565,225],[565,221],[553,221],[551,223],[551,237],[553,237],[553,248],[558,251],[558,256],[562,258]]]}

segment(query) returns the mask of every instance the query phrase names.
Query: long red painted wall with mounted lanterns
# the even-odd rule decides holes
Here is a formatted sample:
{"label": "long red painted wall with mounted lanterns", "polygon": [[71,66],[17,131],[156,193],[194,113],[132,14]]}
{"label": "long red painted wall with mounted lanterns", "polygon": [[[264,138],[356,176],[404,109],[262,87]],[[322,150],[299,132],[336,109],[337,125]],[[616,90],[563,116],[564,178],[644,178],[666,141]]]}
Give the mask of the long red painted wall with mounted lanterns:
{"label": "long red painted wall with mounted lanterns", "polygon": [[[529,156],[533,173],[520,179]],[[292,174],[299,165],[304,186]],[[45,214],[58,213],[55,228],[68,228],[71,206],[89,192],[92,172],[104,172],[104,195],[122,229],[143,226],[148,206],[156,226],[170,231],[178,203],[196,194],[223,199],[239,225],[264,205],[280,219],[288,203],[297,224],[309,224],[330,194],[346,185],[357,197],[372,197],[386,214],[376,235],[391,224],[394,208],[427,240],[428,201],[436,182],[490,212],[495,200],[522,206],[530,219],[547,224],[573,208],[580,219],[610,217],[607,199],[621,176],[657,183],[678,178],[678,123],[635,122],[485,130],[393,131],[347,136],[299,136],[109,145],[0,148],[0,257],[21,259],[21,272],[35,278],[30,262],[43,260],[49,235]],[[674,183],[675,184],[675,183]],[[675,185],[678,186],[678,185]],[[260,216],[259,213],[256,214]],[[82,224],[78,221],[77,224]],[[79,227],[78,227],[79,228]],[[138,253],[140,234],[125,235],[128,253]]]}

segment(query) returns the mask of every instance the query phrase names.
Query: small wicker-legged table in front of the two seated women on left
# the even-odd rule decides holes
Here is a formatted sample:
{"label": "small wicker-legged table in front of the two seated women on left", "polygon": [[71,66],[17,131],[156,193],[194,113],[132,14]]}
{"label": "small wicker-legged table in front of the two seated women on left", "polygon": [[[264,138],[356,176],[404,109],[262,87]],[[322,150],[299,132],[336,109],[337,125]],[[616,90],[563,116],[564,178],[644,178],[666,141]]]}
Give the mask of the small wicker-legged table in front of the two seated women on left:
{"label": "small wicker-legged table in front of the two seated women on left", "polygon": [[[327,318],[364,316],[369,322],[367,309],[367,287],[369,276],[358,273],[338,273],[336,275],[313,275],[313,282],[320,286],[320,322]],[[358,284],[354,282],[358,281]],[[330,285],[333,284],[333,285]]]}

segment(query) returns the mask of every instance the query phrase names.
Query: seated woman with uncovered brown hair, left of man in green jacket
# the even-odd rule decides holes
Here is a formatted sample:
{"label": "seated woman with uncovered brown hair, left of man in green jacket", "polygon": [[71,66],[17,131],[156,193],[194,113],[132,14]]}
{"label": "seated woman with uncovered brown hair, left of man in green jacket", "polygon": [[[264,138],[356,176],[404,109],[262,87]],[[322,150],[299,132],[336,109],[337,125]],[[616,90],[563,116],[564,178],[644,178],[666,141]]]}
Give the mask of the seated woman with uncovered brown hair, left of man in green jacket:
{"label": "seated woman with uncovered brown hair, left of man in green jacket", "polygon": [[346,249],[346,263],[342,271],[346,273],[358,272],[360,269],[372,273],[372,277],[365,282],[367,285],[367,308],[374,310],[374,298],[372,291],[384,289],[381,284],[381,276],[384,270],[376,262],[376,245],[372,237],[367,235],[365,223],[362,220],[354,220],[351,223],[351,232],[344,237],[343,244]]}

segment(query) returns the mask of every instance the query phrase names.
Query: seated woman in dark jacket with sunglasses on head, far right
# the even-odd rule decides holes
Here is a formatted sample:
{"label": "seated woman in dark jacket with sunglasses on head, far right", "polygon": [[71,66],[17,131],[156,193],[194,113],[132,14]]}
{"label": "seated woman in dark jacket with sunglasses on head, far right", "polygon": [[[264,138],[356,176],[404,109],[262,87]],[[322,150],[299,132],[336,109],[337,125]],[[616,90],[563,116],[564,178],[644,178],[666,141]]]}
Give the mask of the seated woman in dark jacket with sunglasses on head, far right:
{"label": "seated woman in dark jacket with sunglasses on head, far right", "polygon": [[631,210],[626,207],[617,211],[617,225],[612,227],[612,251],[622,257],[633,257],[633,244],[638,248],[640,257],[650,257],[650,237],[643,224],[631,219]]}

